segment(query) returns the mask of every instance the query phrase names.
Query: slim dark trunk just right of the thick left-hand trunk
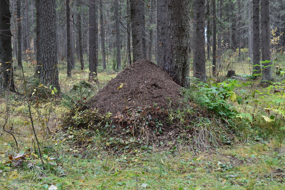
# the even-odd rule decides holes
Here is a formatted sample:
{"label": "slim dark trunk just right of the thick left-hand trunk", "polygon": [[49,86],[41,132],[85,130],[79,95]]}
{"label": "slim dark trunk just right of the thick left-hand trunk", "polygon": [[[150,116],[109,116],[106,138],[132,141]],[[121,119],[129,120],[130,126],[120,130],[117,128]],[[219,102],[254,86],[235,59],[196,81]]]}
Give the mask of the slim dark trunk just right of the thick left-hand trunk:
{"label": "slim dark trunk just right of the thick left-hand trunk", "polygon": [[67,77],[71,78],[72,69],[72,51],[70,37],[70,0],[66,0],[66,59],[67,59]]}

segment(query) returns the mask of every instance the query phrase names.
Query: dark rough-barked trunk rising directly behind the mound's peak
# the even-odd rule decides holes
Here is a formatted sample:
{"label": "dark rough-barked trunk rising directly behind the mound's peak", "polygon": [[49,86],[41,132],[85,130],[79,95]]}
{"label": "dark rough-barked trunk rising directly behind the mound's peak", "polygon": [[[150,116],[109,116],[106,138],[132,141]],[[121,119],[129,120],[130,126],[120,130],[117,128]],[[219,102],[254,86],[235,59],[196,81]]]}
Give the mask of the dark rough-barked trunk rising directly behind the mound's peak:
{"label": "dark rough-barked trunk rising directly behind the mound's peak", "polygon": [[130,0],[131,3],[131,23],[133,38],[133,63],[143,59],[143,42],[141,31],[140,0]]}

